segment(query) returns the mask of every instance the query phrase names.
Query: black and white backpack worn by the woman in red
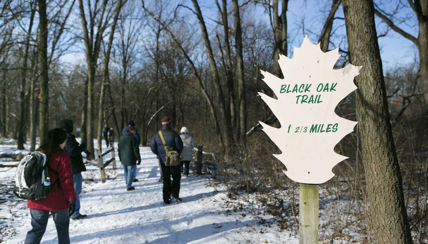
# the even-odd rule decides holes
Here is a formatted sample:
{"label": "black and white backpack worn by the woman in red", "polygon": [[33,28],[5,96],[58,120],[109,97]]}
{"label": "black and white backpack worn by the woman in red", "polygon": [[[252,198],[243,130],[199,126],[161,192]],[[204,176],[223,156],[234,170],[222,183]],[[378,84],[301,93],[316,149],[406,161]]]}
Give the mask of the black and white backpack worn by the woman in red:
{"label": "black and white backpack worn by the woman in red", "polygon": [[[28,199],[40,200],[49,196],[52,186],[58,182],[58,177],[53,184],[50,184],[49,172],[58,176],[58,172],[48,166],[49,157],[44,153],[35,151],[28,153],[18,164],[15,172],[15,186],[13,193],[15,196]],[[49,184],[43,184],[49,182]]]}

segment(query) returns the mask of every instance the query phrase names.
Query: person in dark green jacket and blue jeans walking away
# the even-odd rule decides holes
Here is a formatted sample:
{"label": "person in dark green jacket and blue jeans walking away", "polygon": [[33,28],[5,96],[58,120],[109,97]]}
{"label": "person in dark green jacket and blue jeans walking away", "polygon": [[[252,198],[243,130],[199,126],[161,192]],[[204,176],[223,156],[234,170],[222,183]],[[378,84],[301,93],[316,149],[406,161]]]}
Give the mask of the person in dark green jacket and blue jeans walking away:
{"label": "person in dark green jacket and blue jeans walking away", "polygon": [[134,126],[125,127],[125,132],[121,137],[119,137],[119,142],[117,144],[119,159],[123,165],[123,172],[125,173],[127,191],[135,189],[132,186],[132,182],[134,182],[135,175],[137,173],[137,165],[140,165],[141,163],[140,144],[138,144],[134,133]]}

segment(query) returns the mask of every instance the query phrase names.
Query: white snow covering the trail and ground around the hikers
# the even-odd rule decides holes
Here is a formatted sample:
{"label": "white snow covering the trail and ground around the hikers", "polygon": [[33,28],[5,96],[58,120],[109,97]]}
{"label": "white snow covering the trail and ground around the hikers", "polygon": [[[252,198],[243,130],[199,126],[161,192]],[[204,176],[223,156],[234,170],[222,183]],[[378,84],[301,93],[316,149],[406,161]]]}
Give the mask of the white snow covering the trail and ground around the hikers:
{"label": "white snow covering the trail and ground around the hikers", "polygon": [[[96,145],[96,140],[94,141]],[[0,153],[16,153],[16,144],[1,142]],[[27,147],[26,147],[27,148]],[[117,156],[117,145],[116,159]],[[103,151],[106,150],[105,144]],[[70,220],[70,241],[80,244],[220,244],[220,243],[298,243],[294,233],[278,227],[257,226],[254,216],[226,207],[225,188],[209,184],[208,176],[191,174],[181,178],[183,202],[166,205],[162,200],[162,183],[158,161],[149,147],[140,147],[141,165],[137,166],[134,191],[126,191],[123,169],[106,167],[107,182],[101,183],[94,164],[86,165],[83,174],[81,214],[83,220]],[[85,155],[83,153],[83,155]],[[104,162],[109,159],[105,156]],[[0,161],[1,164],[17,162]],[[15,168],[0,168],[0,184],[11,185]],[[3,198],[3,197],[2,197]],[[17,198],[15,200],[18,200]],[[0,209],[0,243],[24,243],[31,228],[30,212],[25,201],[8,203]],[[4,205],[0,205],[2,208]],[[262,216],[270,218],[271,216]],[[260,229],[263,228],[263,231]],[[15,231],[16,230],[16,231]],[[57,243],[53,219],[42,243]]]}

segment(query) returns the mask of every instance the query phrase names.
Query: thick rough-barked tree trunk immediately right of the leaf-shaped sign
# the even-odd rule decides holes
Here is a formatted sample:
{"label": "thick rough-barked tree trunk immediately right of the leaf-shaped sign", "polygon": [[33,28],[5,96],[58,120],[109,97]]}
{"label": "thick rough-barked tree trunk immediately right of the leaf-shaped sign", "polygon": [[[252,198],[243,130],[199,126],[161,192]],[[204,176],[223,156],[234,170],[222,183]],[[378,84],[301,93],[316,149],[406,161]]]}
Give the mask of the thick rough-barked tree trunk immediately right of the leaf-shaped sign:
{"label": "thick rough-barked tree trunk immediately right of the leaf-shaped sign", "polygon": [[357,118],[376,243],[410,244],[400,167],[389,122],[372,0],[342,0],[350,62],[362,65],[355,78]]}

